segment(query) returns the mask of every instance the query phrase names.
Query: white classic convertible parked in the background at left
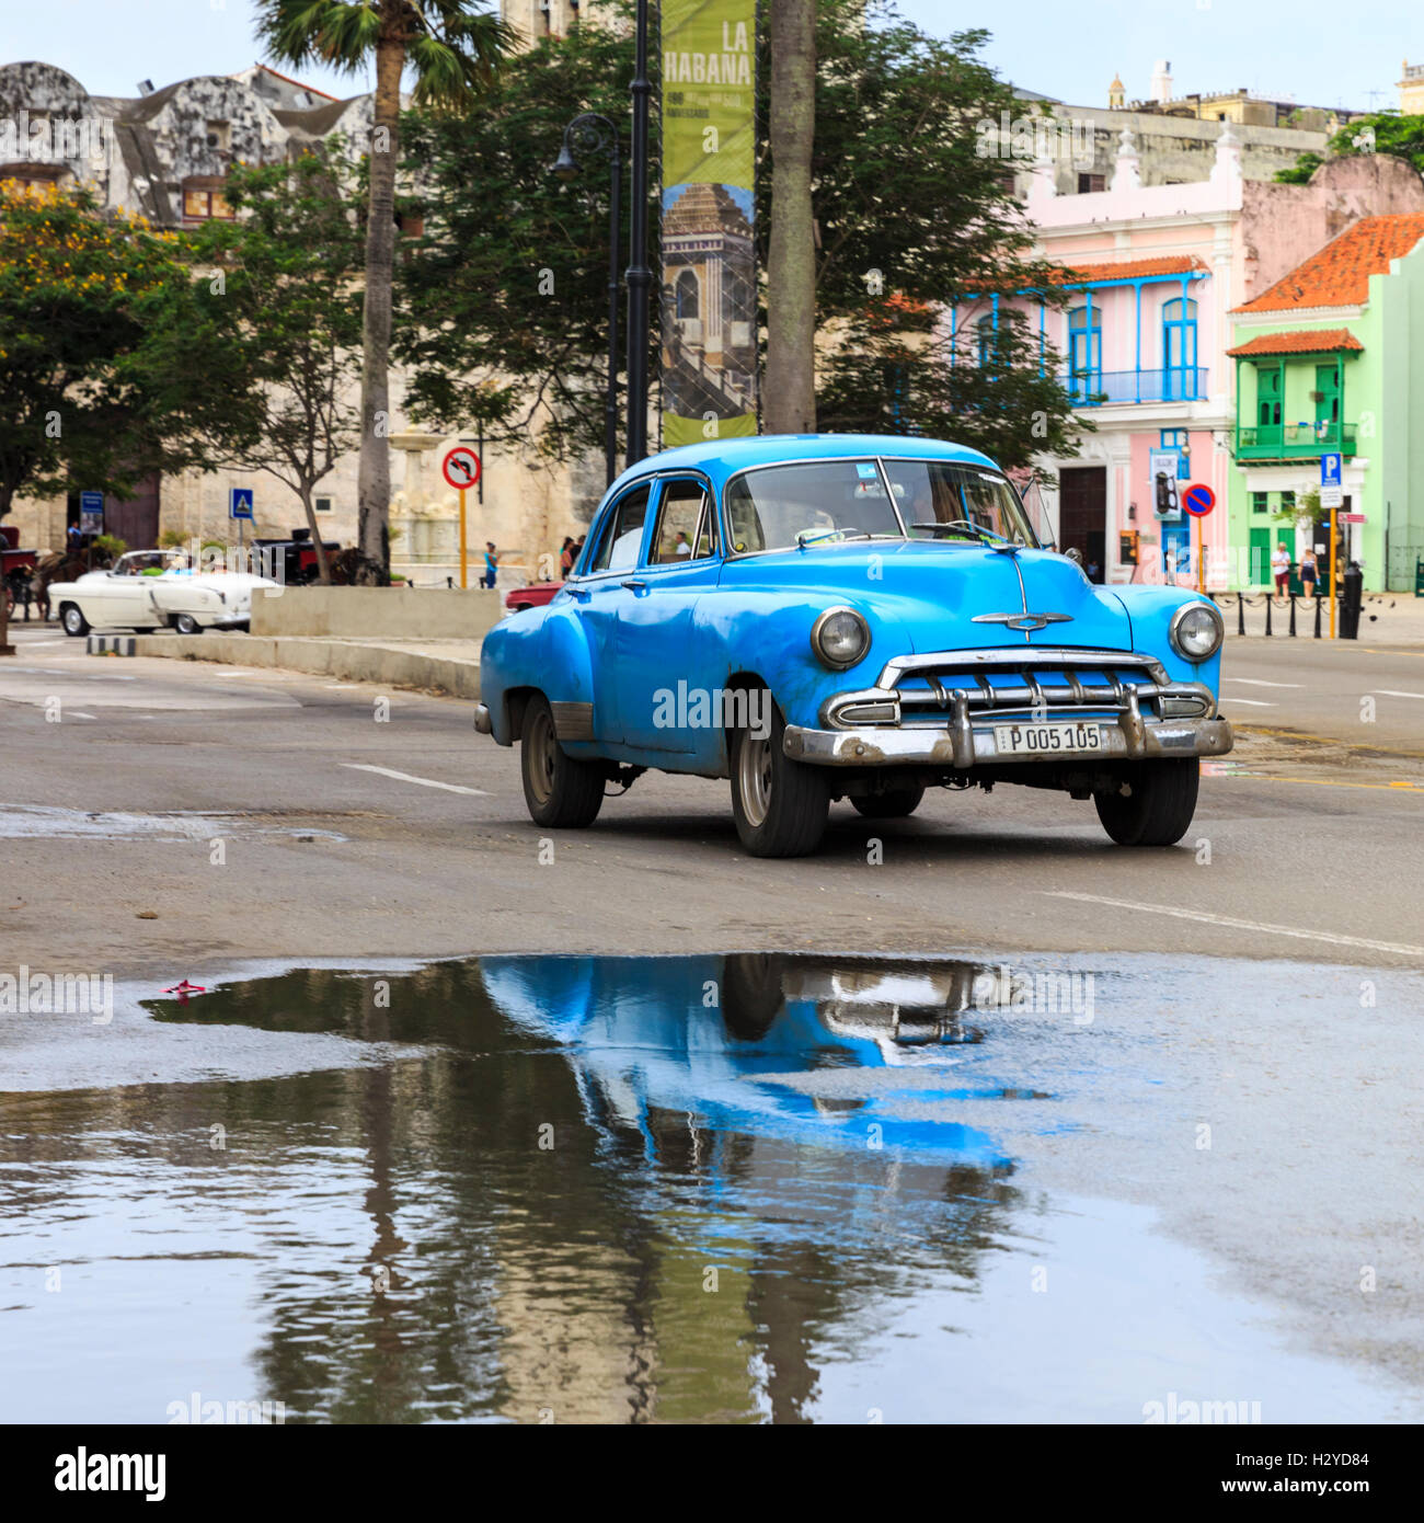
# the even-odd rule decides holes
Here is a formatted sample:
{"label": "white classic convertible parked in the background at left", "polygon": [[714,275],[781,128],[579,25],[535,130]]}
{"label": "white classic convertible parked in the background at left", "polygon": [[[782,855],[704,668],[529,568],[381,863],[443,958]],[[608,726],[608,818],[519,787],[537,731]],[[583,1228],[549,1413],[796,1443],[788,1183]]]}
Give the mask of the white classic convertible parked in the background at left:
{"label": "white classic convertible parked in the background at left", "polygon": [[277,585],[247,571],[192,571],[163,550],[131,550],[108,571],[50,583],[49,597],[67,635],[90,629],[148,634],[168,624],[195,635],[247,624],[253,588]]}

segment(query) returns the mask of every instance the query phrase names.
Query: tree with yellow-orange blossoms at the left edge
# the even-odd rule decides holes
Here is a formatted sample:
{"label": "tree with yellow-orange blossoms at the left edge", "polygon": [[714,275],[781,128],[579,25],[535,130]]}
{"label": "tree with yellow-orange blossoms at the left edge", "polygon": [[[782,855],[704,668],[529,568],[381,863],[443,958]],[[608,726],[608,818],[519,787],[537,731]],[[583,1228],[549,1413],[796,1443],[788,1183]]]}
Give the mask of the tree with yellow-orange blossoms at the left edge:
{"label": "tree with yellow-orange blossoms at the left edge", "polygon": [[181,235],[102,216],[88,190],[0,181],[0,519],[21,492],[128,496],[212,460],[219,388],[168,352],[184,257]]}

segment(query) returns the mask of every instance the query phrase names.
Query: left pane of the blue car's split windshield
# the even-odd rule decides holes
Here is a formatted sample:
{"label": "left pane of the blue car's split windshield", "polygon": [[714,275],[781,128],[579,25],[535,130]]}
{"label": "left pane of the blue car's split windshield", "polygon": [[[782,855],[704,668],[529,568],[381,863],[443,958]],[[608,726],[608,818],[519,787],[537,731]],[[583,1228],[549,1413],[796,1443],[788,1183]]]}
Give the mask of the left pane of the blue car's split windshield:
{"label": "left pane of the blue car's split windshield", "polygon": [[874,460],[748,471],[726,489],[726,518],[739,554],[903,535]]}

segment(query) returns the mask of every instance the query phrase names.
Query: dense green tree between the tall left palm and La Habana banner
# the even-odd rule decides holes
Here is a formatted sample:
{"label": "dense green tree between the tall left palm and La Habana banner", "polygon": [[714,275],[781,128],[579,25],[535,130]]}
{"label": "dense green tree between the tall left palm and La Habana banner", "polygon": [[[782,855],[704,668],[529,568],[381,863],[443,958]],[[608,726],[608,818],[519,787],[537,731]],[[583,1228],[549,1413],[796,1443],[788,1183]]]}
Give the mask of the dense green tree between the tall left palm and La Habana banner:
{"label": "dense green tree between the tall left palm and La Habana banner", "polygon": [[[571,184],[551,166],[580,111],[624,133],[626,164],[631,78],[631,38],[583,26],[513,58],[477,114],[407,119],[408,168],[425,209],[425,235],[396,277],[396,352],[410,372],[413,417],[451,429],[480,423],[495,445],[536,434],[560,458],[600,448],[609,166],[583,157]],[[624,193],[620,250],[627,222]],[[652,375],[655,346],[656,335]]]}

